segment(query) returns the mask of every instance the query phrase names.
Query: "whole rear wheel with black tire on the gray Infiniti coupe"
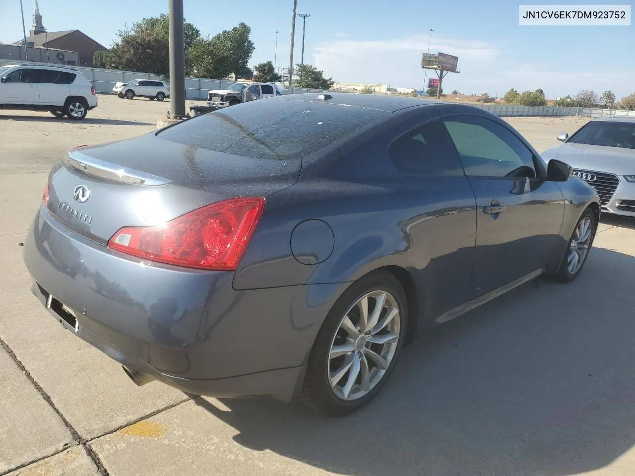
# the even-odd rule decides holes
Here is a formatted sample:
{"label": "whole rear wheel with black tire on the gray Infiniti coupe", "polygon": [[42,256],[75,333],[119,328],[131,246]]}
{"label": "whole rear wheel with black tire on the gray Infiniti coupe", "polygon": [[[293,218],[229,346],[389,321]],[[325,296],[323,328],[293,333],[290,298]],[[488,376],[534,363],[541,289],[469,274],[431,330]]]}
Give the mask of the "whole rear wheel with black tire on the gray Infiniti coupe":
{"label": "whole rear wheel with black tire on the gray Infiniti coupe", "polygon": [[352,284],[320,327],[300,400],[328,416],[344,416],[368,404],[396,365],[408,329],[407,313],[406,295],[391,273],[373,272]]}

